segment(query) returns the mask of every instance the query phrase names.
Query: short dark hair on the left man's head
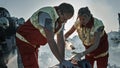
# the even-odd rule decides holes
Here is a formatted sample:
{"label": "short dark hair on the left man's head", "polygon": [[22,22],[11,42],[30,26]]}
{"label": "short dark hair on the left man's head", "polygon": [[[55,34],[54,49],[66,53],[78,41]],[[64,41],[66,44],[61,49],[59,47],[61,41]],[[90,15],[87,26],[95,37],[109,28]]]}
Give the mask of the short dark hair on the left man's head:
{"label": "short dark hair on the left man's head", "polygon": [[62,13],[70,13],[70,14],[74,14],[74,8],[71,4],[68,3],[62,3],[58,6],[58,9],[60,10],[60,12]]}

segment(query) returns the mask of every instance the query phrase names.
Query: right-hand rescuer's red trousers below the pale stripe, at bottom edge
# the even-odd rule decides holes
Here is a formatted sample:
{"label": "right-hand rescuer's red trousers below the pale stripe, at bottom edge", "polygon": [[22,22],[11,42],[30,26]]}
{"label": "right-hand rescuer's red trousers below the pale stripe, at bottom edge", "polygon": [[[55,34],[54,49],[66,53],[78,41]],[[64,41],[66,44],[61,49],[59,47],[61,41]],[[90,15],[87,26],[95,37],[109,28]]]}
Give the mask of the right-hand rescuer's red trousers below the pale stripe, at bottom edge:
{"label": "right-hand rescuer's red trousers below the pale stripe, at bottom edge", "polygon": [[94,68],[94,62],[96,61],[97,68],[107,68],[108,65],[108,55],[100,58],[93,58],[92,56],[86,56],[85,57],[90,64],[92,65],[92,68]]}

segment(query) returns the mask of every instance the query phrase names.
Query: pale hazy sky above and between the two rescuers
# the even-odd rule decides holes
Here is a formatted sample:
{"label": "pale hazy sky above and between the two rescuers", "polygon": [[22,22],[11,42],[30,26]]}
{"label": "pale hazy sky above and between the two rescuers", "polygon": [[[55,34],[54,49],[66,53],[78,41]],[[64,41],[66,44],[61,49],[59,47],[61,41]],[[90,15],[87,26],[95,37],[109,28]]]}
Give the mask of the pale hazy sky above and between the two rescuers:
{"label": "pale hazy sky above and between the two rescuers", "polygon": [[8,9],[11,16],[27,20],[36,10],[45,6],[70,3],[75,9],[74,16],[65,25],[66,31],[74,24],[79,8],[88,6],[94,17],[104,22],[106,32],[118,31],[120,0],[0,0],[0,7]]}

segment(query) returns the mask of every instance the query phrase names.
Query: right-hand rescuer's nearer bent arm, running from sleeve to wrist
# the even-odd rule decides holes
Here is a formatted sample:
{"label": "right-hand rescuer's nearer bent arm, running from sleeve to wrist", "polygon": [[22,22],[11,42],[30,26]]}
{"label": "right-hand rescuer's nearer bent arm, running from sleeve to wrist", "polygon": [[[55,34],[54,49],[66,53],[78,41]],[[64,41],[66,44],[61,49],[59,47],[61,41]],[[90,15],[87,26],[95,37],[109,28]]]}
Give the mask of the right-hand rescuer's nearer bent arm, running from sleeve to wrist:
{"label": "right-hand rescuer's nearer bent arm, running from sleeve to wrist", "polygon": [[104,30],[104,26],[100,27],[96,32],[95,32],[95,43],[90,47],[88,48],[86,51],[84,51],[83,53],[86,55],[92,51],[94,51],[95,49],[98,48],[98,45],[99,45],[99,42],[100,42],[100,35],[101,33],[103,32]]}

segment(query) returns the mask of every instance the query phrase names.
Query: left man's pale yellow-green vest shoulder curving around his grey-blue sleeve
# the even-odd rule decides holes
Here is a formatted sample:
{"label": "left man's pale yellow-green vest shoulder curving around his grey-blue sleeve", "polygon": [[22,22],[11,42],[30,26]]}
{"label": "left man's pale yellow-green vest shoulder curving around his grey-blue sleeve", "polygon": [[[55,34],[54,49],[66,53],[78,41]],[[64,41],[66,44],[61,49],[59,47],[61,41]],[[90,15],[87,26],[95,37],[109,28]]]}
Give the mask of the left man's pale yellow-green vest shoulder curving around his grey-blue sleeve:
{"label": "left man's pale yellow-green vest shoulder curving around his grey-blue sleeve", "polygon": [[59,18],[59,15],[57,14],[56,10],[54,7],[45,7],[45,8],[41,8],[38,11],[36,11],[31,17],[30,17],[30,21],[31,24],[40,31],[40,33],[46,37],[46,34],[44,32],[43,27],[39,24],[39,14],[45,12],[48,13],[52,19],[52,27],[53,27],[53,32],[55,29],[55,22],[57,21],[57,19]]}

